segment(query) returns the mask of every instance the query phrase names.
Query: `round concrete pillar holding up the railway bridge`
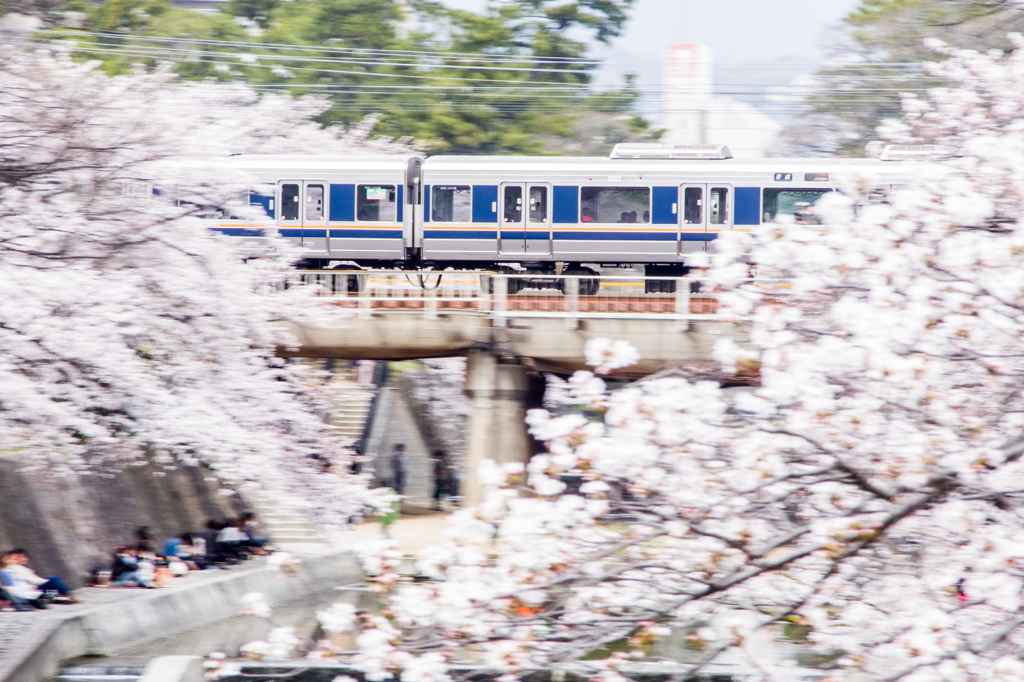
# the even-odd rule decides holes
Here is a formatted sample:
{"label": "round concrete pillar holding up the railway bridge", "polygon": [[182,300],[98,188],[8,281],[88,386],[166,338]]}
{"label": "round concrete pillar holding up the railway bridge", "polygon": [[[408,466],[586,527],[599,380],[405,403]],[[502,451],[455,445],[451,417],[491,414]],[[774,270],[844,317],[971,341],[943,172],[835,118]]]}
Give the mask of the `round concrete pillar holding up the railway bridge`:
{"label": "round concrete pillar holding up the railway bridge", "polygon": [[466,392],[473,402],[473,412],[463,463],[464,506],[480,503],[483,489],[476,478],[480,462],[525,464],[534,454],[534,440],[526,432],[524,420],[537,388],[537,381],[521,365],[503,361],[484,350],[469,351]]}

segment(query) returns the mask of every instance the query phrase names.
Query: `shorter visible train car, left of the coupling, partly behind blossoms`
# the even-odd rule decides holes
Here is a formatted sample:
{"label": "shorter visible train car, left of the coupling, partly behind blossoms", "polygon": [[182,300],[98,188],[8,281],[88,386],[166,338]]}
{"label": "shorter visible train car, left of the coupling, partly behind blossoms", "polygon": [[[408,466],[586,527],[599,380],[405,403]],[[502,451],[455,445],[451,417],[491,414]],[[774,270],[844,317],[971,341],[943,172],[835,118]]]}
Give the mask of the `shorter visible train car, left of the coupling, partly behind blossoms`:
{"label": "shorter visible train car, left of the coupling, partly behind blossoms", "polygon": [[[421,158],[245,155],[228,163],[256,178],[250,204],[266,211],[280,237],[303,247],[301,267],[407,260],[420,221]],[[263,231],[230,216],[210,228],[241,238]]]}

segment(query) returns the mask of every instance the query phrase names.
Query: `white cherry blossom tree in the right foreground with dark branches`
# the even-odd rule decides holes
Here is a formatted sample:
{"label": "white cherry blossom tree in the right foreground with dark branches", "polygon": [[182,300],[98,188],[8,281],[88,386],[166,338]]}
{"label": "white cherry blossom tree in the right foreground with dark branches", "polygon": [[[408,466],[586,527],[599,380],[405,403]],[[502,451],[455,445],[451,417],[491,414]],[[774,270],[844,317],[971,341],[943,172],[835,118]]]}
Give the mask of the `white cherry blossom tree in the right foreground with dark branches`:
{"label": "white cherry blossom tree in the right foreground with dark branches", "polygon": [[585,409],[532,411],[547,453],[481,469],[485,501],[421,562],[435,582],[368,550],[369,679],[446,679],[474,648],[505,679],[618,679],[670,632],[694,656],[674,679],[727,654],[790,679],[752,648],[787,625],[828,680],[1024,680],[1024,50],[948,57],[959,87],[887,128],[941,163],[884,203],[847,178],[826,228],[719,240],[708,275],[749,342],[717,356],[758,386],[609,391],[633,353],[595,344]]}

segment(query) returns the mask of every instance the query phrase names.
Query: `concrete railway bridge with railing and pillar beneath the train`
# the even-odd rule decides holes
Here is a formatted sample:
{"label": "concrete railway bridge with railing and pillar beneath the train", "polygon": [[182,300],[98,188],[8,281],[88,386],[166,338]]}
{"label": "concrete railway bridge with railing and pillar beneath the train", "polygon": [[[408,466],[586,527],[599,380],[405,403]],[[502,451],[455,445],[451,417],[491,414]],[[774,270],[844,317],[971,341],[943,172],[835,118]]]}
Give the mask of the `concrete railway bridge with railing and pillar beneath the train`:
{"label": "concrete railway bridge with railing and pillar beneath the train", "polygon": [[540,403],[539,374],[586,369],[590,339],[629,341],[638,378],[673,367],[710,367],[723,335],[741,336],[691,278],[603,272],[592,278],[471,271],[305,270],[306,284],[350,310],[329,329],[285,321],[299,341],[279,350],[305,358],[396,360],[466,356],[472,401],[464,459],[467,504],[479,500],[480,461],[525,462],[534,452],[524,417]]}

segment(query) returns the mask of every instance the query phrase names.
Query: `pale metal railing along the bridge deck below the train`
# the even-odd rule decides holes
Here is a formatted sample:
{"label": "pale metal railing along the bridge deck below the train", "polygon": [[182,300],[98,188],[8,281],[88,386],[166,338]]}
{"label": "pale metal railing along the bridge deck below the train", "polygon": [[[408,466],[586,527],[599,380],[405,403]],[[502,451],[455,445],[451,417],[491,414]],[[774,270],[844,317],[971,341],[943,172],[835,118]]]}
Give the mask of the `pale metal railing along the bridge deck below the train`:
{"label": "pale metal railing along the bridge deck below the train", "polygon": [[[718,301],[694,276],[536,274],[468,270],[296,270],[290,282],[319,287],[318,295],[359,316],[407,311],[426,318],[472,314],[497,327],[515,318],[718,319]],[[288,286],[287,283],[281,285]]]}

